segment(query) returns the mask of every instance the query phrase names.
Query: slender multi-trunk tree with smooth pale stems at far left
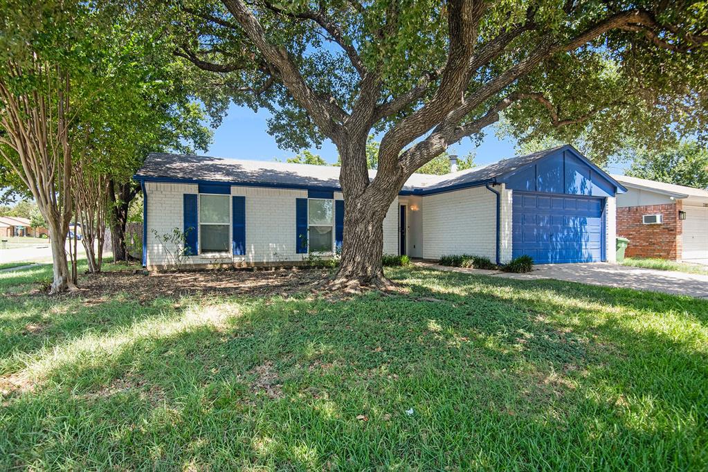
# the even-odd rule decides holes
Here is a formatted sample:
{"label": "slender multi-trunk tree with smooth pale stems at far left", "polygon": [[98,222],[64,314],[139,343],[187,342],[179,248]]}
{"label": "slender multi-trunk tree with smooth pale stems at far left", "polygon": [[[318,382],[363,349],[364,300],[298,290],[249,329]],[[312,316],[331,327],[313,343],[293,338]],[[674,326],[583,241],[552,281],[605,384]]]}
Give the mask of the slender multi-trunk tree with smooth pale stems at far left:
{"label": "slender multi-trunk tree with smooth pale stems at far left", "polygon": [[128,185],[147,151],[203,149],[210,132],[164,30],[130,2],[6,0],[0,33],[0,156],[47,222],[52,292],[63,292],[76,279],[69,224],[100,270],[109,183]]}

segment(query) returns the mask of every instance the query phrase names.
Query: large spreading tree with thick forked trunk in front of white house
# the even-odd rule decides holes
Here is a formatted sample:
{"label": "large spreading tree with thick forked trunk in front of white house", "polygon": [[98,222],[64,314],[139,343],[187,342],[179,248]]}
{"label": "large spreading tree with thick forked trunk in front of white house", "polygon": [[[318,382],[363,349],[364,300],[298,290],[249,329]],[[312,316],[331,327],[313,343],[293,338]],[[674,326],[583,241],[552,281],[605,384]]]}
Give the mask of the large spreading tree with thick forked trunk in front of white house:
{"label": "large spreading tree with thick forked trunk in front of white house", "polygon": [[171,24],[175,54],[205,71],[207,107],[266,107],[281,146],[337,146],[346,214],[333,289],[389,284],[389,205],[501,112],[520,136],[591,129],[608,153],[629,130],[647,142],[705,133],[705,2],[183,0]]}

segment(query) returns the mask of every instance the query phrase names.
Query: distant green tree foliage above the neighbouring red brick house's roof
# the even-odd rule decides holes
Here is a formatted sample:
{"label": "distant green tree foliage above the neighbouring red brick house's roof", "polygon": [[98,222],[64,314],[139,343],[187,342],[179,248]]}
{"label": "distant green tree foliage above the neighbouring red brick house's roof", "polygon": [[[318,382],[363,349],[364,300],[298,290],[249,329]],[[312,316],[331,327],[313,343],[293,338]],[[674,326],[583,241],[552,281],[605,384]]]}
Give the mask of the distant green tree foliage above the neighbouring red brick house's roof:
{"label": "distant green tree foliage above the neighbouring red brick house's roof", "polygon": [[695,141],[660,152],[640,149],[627,175],[708,189],[708,150]]}

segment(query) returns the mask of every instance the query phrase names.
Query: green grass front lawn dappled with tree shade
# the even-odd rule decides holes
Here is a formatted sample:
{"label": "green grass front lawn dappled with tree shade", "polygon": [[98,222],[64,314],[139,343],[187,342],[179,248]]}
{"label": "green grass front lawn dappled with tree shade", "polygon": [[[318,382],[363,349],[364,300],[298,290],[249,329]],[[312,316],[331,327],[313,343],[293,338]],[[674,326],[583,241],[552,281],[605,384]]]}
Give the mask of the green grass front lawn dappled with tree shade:
{"label": "green grass front lawn dappled with tree shade", "polygon": [[708,301],[387,273],[339,301],[1,274],[0,469],[708,468]]}

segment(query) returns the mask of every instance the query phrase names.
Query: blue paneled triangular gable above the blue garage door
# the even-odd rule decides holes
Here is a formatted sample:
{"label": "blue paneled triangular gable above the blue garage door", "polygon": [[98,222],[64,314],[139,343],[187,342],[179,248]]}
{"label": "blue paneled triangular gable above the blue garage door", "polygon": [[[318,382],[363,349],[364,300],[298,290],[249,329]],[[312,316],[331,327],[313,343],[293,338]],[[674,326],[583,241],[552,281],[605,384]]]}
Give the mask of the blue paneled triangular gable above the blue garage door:
{"label": "blue paneled triangular gable above the blue garage door", "polygon": [[615,185],[570,149],[559,149],[500,179],[510,190],[614,197]]}

